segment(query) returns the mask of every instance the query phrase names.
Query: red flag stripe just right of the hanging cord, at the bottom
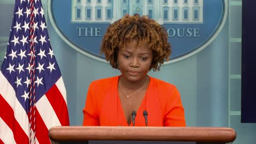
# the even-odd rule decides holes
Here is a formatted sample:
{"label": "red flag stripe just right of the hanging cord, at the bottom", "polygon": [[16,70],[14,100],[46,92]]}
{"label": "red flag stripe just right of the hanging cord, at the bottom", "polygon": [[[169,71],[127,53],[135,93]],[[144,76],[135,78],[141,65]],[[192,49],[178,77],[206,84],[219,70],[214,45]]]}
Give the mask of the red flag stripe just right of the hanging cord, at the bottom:
{"label": "red flag stripe just right of the hanging cord, at the bottom", "polygon": [[36,138],[39,143],[51,143],[49,136],[48,136],[48,129],[41,117],[41,115],[38,113],[38,110],[36,110]]}

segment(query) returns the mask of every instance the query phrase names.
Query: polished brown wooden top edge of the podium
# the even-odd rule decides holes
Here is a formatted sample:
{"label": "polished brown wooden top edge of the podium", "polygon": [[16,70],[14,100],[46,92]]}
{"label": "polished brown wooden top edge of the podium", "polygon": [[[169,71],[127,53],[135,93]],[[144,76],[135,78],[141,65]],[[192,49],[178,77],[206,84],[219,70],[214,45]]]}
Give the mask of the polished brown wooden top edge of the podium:
{"label": "polished brown wooden top edge of the podium", "polygon": [[49,130],[49,138],[54,144],[88,143],[89,140],[215,144],[233,142],[236,132],[228,127],[55,126]]}

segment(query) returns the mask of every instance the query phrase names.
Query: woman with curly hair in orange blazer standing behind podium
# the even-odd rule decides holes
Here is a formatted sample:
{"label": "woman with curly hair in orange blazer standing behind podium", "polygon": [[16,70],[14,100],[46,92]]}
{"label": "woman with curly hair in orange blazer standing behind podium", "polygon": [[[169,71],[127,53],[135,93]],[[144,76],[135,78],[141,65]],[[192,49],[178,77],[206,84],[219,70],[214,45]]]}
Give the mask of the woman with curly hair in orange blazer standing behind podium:
{"label": "woman with curly hair in orange blazer standing behind podium", "polygon": [[167,37],[164,27],[139,14],[126,14],[108,27],[100,50],[121,75],[90,84],[83,125],[186,125],[177,88],[147,75],[169,60]]}

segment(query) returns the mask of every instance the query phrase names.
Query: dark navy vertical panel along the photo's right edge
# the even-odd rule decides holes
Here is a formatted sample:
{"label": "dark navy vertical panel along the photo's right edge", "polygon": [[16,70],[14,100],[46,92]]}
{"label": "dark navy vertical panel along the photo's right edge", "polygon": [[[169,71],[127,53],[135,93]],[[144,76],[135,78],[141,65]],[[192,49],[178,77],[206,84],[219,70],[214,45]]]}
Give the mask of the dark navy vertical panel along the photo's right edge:
{"label": "dark navy vertical panel along the photo's right edge", "polygon": [[243,1],[242,10],[242,105],[241,122],[256,123],[256,11],[252,11],[255,1]]}

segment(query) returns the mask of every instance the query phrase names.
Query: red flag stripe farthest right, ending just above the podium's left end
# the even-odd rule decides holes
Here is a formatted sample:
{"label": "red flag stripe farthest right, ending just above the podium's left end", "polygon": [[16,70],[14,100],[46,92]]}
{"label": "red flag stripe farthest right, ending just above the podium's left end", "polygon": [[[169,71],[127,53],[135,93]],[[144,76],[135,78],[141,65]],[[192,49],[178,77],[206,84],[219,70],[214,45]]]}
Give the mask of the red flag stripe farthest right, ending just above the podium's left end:
{"label": "red flag stripe farthest right, ending just above the podium's left end", "polygon": [[68,108],[58,87],[54,84],[45,94],[62,126],[69,125]]}

